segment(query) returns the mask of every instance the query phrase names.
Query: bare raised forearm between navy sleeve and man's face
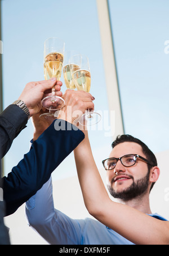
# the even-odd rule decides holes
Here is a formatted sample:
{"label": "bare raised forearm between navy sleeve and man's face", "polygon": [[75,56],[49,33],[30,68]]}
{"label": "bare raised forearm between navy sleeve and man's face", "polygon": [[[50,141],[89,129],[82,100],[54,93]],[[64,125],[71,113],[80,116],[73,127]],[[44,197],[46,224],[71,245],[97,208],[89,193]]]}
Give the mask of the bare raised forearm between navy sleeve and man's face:
{"label": "bare raised forearm between navy sleeve and man's face", "polygon": [[100,211],[103,200],[109,196],[96,167],[87,131],[84,134],[85,139],[74,150],[74,158],[84,204],[88,212],[95,215]]}

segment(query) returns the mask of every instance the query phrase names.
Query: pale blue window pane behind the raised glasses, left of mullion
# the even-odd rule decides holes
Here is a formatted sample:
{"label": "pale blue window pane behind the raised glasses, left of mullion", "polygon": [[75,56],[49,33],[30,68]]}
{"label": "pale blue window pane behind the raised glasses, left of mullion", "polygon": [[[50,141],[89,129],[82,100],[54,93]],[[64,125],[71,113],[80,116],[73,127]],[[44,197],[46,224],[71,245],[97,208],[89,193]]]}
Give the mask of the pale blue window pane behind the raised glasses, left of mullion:
{"label": "pale blue window pane behind the raised glasses, left of mullion", "polygon": [[[43,43],[49,37],[60,37],[65,41],[65,50],[77,50],[89,57],[95,109],[108,111],[95,0],[86,0],[83,4],[79,0],[2,1],[4,108],[19,97],[26,83],[44,79]],[[61,80],[64,92],[63,75]],[[105,123],[102,120],[100,131],[90,131],[98,167],[102,167],[101,160],[111,150],[112,136],[108,135],[109,130],[106,129],[109,127],[105,127]],[[15,139],[7,153],[6,173],[29,151],[32,136],[33,127],[29,121],[28,127]],[[55,174],[57,177],[68,177],[72,173],[76,174],[73,155],[57,168]]]}

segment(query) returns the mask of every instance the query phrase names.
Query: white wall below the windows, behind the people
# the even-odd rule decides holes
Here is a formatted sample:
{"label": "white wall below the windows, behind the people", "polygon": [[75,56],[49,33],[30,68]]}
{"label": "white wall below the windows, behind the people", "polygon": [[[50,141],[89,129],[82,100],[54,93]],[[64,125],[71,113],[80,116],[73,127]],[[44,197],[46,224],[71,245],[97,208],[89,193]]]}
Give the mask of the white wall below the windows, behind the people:
{"label": "white wall below the windows, behind the people", "polygon": [[[157,212],[169,220],[169,168],[166,164],[168,156],[169,151],[157,154],[161,176],[150,194],[150,204],[153,213]],[[103,169],[100,170],[100,174],[105,181]],[[90,216],[84,206],[77,177],[54,181],[53,186],[55,208],[75,219]],[[5,223],[10,228],[11,243],[13,245],[47,245],[43,238],[28,227],[24,212],[25,208],[21,206],[15,214],[5,218]]]}

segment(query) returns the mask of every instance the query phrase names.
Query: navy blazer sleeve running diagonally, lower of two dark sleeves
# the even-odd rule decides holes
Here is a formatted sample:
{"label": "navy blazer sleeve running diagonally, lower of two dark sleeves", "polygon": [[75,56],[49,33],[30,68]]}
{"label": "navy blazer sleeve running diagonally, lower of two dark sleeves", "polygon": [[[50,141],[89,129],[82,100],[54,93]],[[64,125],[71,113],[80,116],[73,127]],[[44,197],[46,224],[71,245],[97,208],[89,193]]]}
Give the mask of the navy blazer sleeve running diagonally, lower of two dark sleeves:
{"label": "navy blazer sleeve running diagonally, lower of two dark sleeves", "polygon": [[[60,127],[60,130],[59,130]],[[3,177],[6,215],[32,197],[45,184],[56,167],[84,139],[84,133],[63,120],[54,121],[35,140],[24,159]]]}

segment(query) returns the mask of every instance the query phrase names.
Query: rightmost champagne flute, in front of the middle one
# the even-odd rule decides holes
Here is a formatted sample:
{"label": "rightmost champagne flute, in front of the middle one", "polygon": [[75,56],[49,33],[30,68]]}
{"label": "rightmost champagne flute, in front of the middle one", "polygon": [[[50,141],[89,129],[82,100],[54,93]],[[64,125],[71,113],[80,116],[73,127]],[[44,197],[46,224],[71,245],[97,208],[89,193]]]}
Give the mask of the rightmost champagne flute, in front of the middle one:
{"label": "rightmost champagne flute, in front of the middle one", "polygon": [[[88,57],[81,54],[77,54],[70,58],[69,63],[79,67],[77,70],[70,69],[72,73],[72,79],[75,87],[78,91],[90,92],[91,87],[91,72]],[[83,126],[91,126],[100,122],[101,116],[99,113],[90,111],[89,109],[79,120],[79,123]],[[87,121],[87,123],[86,123]]]}

